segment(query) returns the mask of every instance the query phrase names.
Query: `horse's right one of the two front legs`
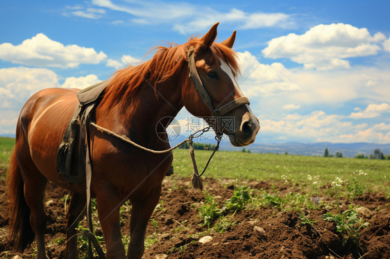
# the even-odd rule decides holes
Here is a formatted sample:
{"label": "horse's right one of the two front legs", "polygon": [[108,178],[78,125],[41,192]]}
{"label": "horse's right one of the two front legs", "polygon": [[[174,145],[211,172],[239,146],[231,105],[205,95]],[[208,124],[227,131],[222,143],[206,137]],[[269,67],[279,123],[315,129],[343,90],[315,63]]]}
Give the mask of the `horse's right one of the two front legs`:
{"label": "horse's right one of the two front legs", "polygon": [[149,196],[132,201],[130,219],[130,242],[128,243],[127,258],[139,259],[144,254],[146,226],[158,204],[161,195],[161,185],[153,188]]}

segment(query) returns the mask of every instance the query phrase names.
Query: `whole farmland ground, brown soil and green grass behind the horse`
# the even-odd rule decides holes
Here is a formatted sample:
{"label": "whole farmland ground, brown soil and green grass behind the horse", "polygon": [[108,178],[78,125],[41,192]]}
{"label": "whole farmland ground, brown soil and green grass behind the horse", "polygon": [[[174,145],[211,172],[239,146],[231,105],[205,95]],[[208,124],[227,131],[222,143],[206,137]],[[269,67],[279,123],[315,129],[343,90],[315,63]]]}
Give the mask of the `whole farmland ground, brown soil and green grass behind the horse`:
{"label": "whole farmland ground, brown soil and green grass behind the horse", "polygon": [[[16,254],[6,236],[3,194],[12,145],[12,139],[0,139],[0,258]],[[174,175],[164,179],[147,229],[144,258],[390,257],[388,160],[217,152],[201,191],[190,186],[188,150],[173,154]],[[209,156],[210,151],[196,150],[199,168]],[[51,258],[64,256],[67,195],[49,184],[46,247]],[[121,207],[124,243],[130,211],[128,203]],[[103,244],[97,219],[94,222]],[[83,258],[85,239],[80,235],[78,240]],[[24,258],[34,256],[34,249]]]}

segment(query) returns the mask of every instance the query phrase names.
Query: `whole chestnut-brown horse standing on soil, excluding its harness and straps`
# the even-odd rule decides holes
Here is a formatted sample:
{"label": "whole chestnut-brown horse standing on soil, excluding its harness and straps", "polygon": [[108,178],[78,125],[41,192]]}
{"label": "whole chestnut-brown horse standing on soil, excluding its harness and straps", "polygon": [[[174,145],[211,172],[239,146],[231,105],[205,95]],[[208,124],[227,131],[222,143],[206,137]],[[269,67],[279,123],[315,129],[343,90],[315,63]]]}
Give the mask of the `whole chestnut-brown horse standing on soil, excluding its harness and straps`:
{"label": "whole chestnut-brown horse standing on soil, excluding its harness and straps", "polygon": [[[232,51],[235,32],[226,41],[215,43],[217,26],[212,26],[202,38],[189,39],[183,45],[160,47],[151,60],[117,71],[96,107],[96,125],[128,136],[146,148],[165,150],[169,148],[167,134],[162,136],[165,129],[156,130],[156,125],[162,127],[169,121],[158,123],[161,118],[175,117],[183,106],[194,116],[210,118],[210,107],[205,105],[189,79],[190,49],[196,71],[214,107],[243,98],[235,81],[239,73]],[[24,105],[17,122],[16,145],[8,171],[10,235],[19,251],[35,239],[40,259],[46,258],[44,190],[48,180],[72,192],[67,211],[65,258],[78,258],[73,223],[80,220],[78,215],[85,207],[85,184],[69,184],[56,170],[56,153],[78,105],[77,92],[76,89],[53,88],[35,93]],[[229,134],[232,145],[253,143],[260,125],[248,104],[228,110],[223,116],[234,118],[236,127],[227,132],[214,125],[215,132]],[[91,125],[89,128],[93,168],[91,193],[96,197],[106,256],[126,257],[118,206],[128,197],[133,207],[127,258],[141,258],[146,225],[160,199],[162,179],[171,166],[173,154],[139,150]]]}

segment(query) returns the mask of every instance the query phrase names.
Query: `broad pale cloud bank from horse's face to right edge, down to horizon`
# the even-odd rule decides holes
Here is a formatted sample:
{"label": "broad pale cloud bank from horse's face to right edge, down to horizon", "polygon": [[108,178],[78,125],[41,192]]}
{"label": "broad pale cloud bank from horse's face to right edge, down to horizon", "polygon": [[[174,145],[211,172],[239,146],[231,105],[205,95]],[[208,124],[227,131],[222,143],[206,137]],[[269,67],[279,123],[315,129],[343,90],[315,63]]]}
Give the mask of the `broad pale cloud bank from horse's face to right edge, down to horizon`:
{"label": "broad pale cloud bank from horse's face to right edge, down to horizon", "polygon": [[[258,139],[390,142],[390,125],[386,124],[390,119],[385,114],[390,112],[389,67],[355,66],[340,71],[287,69],[280,63],[260,64],[248,51],[239,53],[239,62],[240,87],[251,100],[251,108],[262,125]],[[350,115],[348,110],[339,108],[359,102],[371,105],[355,107]],[[313,107],[323,111],[288,114],[291,112],[288,108],[295,107],[301,112]],[[337,110],[336,114],[326,114],[329,109]],[[354,118],[369,120],[357,123]]]}

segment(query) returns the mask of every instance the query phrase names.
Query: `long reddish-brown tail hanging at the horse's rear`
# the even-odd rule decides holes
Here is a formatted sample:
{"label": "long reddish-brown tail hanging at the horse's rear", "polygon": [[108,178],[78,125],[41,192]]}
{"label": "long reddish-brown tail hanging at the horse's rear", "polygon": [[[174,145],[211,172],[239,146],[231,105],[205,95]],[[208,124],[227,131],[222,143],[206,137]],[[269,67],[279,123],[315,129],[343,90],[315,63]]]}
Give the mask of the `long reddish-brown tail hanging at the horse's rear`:
{"label": "long reddish-brown tail hanging at the horse's rear", "polygon": [[24,181],[17,163],[15,148],[10,157],[6,186],[11,244],[17,251],[23,252],[34,241],[35,235],[30,223],[31,211],[24,198]]}

